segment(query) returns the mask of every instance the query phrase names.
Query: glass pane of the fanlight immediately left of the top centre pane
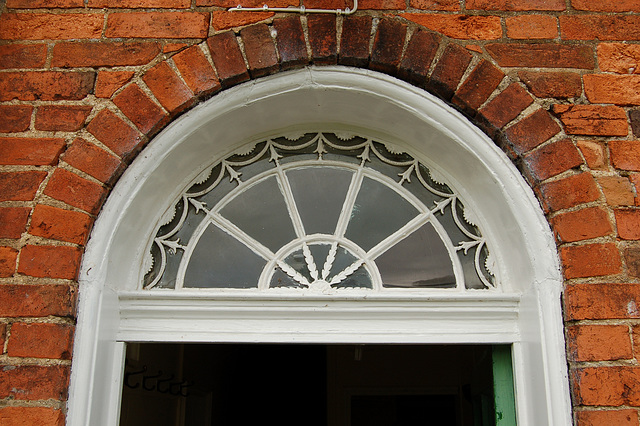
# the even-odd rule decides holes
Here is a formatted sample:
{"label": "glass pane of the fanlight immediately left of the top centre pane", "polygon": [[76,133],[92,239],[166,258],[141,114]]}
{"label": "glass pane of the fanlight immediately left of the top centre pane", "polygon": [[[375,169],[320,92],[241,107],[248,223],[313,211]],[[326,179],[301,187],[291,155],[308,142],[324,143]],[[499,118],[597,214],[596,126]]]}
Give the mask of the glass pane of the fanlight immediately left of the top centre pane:
{"label": "glass pane of the fanlight immediately left of the top centre pane", "polygon": [[220,214],[274,253],[296,237],[275,176],[246,189]]}

